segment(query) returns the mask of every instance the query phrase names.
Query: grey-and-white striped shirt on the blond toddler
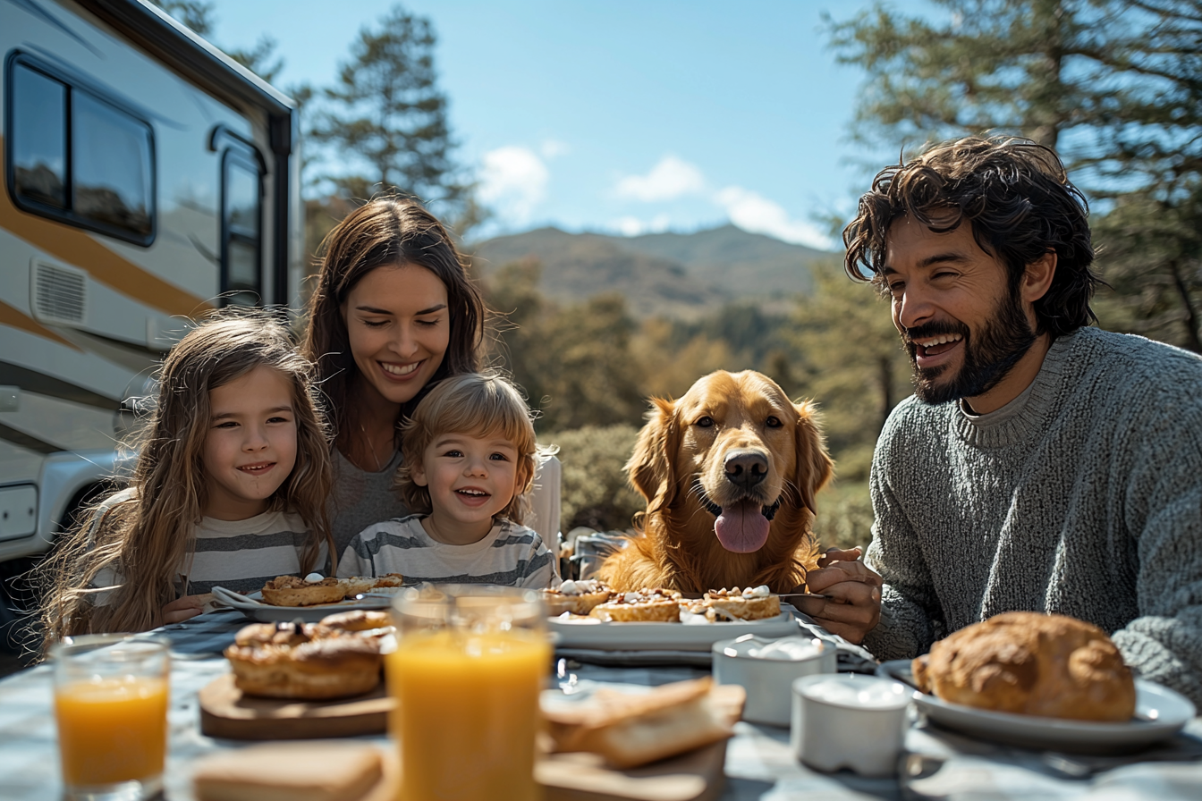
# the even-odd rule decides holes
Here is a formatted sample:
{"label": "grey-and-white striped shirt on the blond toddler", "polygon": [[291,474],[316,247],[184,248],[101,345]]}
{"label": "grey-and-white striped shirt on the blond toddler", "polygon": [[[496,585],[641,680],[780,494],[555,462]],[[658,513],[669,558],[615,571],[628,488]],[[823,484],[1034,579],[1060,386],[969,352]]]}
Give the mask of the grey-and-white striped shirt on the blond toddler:
{"label": "grey-and-white striped shirt on the blond toddler", "polygon": [[546,587],[557,578],[555,560],[532,528],[500,519],[478,543],[447,545],[422,527],[424,515],[368,526],[338,560],[338,575],[400,573],[405,584],[499,584]]}

